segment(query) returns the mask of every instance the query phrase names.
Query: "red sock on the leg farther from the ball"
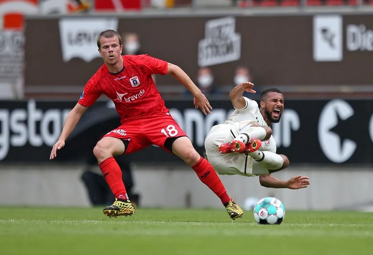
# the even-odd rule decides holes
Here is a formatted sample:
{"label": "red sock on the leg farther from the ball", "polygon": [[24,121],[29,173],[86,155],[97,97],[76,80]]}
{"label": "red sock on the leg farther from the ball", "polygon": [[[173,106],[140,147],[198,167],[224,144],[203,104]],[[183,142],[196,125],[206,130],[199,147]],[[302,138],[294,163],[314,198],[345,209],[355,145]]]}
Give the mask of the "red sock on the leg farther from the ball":
{"label": "red sock on the leg farther from the ball", "polygon": [[114,196],[118,199],[128,200],[127,191],[122,181],[122,170],[115,159],[113,157],[107,158],[98,166]]}

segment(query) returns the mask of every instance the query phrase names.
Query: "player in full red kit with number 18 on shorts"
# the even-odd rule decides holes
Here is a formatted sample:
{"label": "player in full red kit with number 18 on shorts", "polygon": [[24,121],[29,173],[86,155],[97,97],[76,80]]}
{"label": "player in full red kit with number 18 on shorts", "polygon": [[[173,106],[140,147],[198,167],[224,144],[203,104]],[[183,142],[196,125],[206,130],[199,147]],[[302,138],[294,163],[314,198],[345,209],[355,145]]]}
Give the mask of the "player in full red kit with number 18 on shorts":
{"label": "player in full red kit with number 18 on shorts", "polygon": [[197,153],[170,116],[151,75],[173,76],[193,94],[195,107],[206,115],[211,113],[212,107],[201,90],[176,65],[148,55],[121,55],[121,38],[114,30],[101,32],[97,47],[104,65],[85,85],[79,101],[67,116],[50,159],[64,147],[83,113],[104,94],[114,102],[121,118],[121,126],[103,136],[93,149],[102,174],[115,195],[114,203],[103,210],[106,216],[128,216],[135,212],[113,156],[133,153],[154,144],[176,154],[192,167],[200,180],[221,199],[230,218],[242,217],[242,209],[227,195],[211,164]]}

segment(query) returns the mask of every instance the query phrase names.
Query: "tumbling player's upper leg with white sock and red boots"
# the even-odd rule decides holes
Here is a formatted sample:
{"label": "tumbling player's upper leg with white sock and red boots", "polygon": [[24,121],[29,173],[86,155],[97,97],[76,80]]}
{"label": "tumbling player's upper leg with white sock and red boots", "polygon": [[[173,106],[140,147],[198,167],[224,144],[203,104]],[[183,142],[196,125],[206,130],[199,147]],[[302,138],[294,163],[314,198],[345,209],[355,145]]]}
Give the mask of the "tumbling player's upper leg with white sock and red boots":
{"label": "tumbling player's upper leg with white sock and red boots", "polygon": [[259,150],[261,141],[269,139],[272,129],[257,124],[246,124],[232,141],[219,146],[220,153],[250,153]]}

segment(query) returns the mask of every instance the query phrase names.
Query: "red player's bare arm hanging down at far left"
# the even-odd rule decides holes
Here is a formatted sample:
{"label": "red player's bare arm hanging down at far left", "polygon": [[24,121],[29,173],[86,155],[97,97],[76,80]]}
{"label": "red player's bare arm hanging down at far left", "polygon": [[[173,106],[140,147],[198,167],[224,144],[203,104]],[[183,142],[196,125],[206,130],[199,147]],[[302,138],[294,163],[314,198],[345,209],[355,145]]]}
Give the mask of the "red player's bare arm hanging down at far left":
{"label": "red player's bare arm hanging down at far left", "polygon": [[49,159],[54,159],[57,156],[57,151],[65,146],[65,141],[67,137],[73,132],[79,119],[82,117],[83,113],[88,109],[88,107],[83,106],[79,103],[70,111],[67,115],[65,123],[63,124],[61,135],[59,136],[55,145],[53,145],[51,156]]}

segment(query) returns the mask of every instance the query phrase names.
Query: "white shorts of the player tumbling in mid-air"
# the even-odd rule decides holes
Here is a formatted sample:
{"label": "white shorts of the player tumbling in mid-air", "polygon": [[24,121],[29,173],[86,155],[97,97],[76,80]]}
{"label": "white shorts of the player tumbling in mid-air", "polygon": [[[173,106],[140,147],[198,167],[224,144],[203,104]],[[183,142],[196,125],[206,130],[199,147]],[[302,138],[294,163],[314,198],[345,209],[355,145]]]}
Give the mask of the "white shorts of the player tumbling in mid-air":
{"label": "white shorts of the player tumbling in mid-air", "polygon": [[219,145],[233,140],[240,133],[242,125],[256,124],[255,121],[242,121],[234,124],[219,124],[211,128],[205,138],[206,159],[219,174],[239,174],[253,176],[268,174],[252,157],[242,153],[225,153],[218,151]]}

